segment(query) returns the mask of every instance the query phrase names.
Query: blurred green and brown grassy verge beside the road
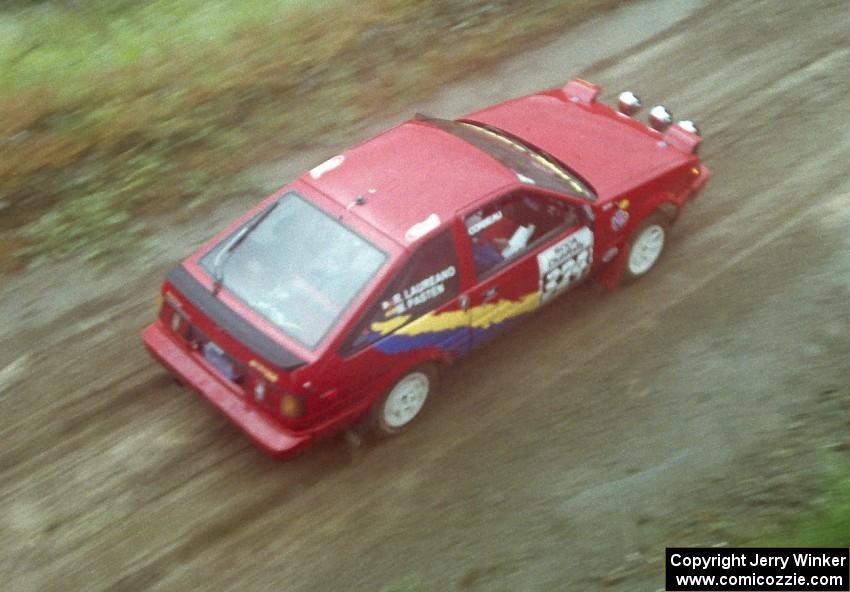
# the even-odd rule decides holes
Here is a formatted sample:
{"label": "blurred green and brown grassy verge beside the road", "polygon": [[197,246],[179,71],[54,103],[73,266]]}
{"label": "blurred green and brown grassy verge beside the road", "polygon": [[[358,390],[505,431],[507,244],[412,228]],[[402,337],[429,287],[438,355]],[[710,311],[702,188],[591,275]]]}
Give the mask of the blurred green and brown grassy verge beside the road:
{"label": "blurred green and brown grassy verge beside the road", "polygon": [[152,215],[249,190],[234,179],[252,163],[342,139],[614,4],[6,2],[0,270],[114,252]]}

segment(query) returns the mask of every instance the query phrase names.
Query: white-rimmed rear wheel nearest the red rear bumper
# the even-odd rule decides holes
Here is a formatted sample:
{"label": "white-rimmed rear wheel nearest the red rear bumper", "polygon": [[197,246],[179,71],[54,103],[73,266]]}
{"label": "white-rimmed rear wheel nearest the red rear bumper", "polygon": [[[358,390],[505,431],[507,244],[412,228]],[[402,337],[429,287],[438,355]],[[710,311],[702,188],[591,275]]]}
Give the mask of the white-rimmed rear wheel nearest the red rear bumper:
{"label": "white-rimmed rear wheel nearest the red rear bumper", "polygon": [[379,436],[402,432],[425,407],[436,387],[437,371],[433,366],[420,366],[402,376],[373,407],[373,429]]}

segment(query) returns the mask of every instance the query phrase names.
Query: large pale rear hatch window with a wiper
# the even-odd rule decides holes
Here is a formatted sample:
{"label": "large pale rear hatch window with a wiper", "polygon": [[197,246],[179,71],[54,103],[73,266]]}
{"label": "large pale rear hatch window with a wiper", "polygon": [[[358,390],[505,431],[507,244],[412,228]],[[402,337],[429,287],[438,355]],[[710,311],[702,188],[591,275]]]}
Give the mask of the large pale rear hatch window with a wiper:
{"label": "large pale rear hatch window with a wiper", "polygon": [[262,214],[226,258],[219,252],[255,219],[219,242],[200,264],[214,275],[218,259],[222,286],[313,349],[375,276],[386,254],[295,192]]}

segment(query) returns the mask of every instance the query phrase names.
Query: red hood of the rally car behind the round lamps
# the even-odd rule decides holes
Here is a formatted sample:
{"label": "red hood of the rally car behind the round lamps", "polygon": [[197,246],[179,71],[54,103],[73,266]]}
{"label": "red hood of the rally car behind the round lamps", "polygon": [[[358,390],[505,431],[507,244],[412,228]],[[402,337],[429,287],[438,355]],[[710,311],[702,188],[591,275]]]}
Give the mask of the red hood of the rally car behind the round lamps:
{"label": "red hood of the rally car behind the round lamps", "polygon": [[560,90],[522,97],[463,118],[503,130],[548,152],[605,201],[693,156],[642,123],[600,103],[573,102]]}

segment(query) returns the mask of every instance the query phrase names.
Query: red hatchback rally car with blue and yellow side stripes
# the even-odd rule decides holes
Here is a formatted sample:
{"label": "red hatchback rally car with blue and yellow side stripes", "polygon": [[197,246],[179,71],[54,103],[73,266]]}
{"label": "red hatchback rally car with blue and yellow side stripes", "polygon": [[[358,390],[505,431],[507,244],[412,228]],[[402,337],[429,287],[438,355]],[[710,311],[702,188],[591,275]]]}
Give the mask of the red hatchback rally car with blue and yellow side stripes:
{"label": "red hatchback rally car with blue and yellow side stripes", "polygon": [[692,122],[598,93],[417,116],[320,164],[168,274],[145,345],[271,454],[400,432],[443,364],[588,278],[647,273],[708,180]]}

